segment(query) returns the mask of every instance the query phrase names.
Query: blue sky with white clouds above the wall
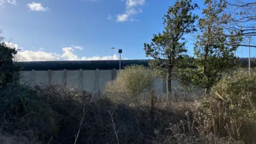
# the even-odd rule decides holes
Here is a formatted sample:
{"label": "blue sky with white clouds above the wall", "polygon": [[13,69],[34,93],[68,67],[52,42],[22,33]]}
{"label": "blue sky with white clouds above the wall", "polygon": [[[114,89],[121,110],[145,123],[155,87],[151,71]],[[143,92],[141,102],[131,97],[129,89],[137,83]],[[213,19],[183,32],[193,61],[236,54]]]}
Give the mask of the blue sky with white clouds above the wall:
{"label": "blue sky with white clouds above the wall", "polygon": [[[167,0],[0,0],[0,29],[27,60],[148,59],[143,43],[163,30]],[[202,1],[193,1],[202,8]],[[201,14],[201,10],[195,11]],[[187,40],[189,54],[193,45]],[[251,53],[255,53],[251,48]],[[243,51],[248,54],[247,48]],[[239,50],[237,52],[239,55]],[[255,55],[255,54],[252,54]]]}

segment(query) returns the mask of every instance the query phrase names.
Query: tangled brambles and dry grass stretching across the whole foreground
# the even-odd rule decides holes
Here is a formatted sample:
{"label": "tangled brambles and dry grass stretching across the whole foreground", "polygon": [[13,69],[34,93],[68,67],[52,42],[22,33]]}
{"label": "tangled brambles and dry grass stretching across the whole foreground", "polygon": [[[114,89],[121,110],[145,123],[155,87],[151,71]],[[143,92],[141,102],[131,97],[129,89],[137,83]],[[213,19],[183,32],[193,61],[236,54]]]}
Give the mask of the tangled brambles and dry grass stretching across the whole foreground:
{"label": "tangled brambles and dry grass stretching across the whole foreground", "polygon": [[[223,89],[222,95],[225,94],[224,90],[231,89]],[[210,97],[201,93],[176,92],[170,99],[164,93],[155,92],[153,119],[150,119],[150,92],[140,92],[132,98],[127,92],[85,92],[84,97],[82,95],[74,89],[58,85],[33,88],[13,85],[1,91],[0,122],[4,134],[0,135],[0,143],[160,144],[245,141],[235,139],[230,133],[235,132],[235,125],[227,125],[231,123],[226,123],[229,126],[225,127],[225,130],[229,130],[226,135],[222,135],[220,130],[223,129],[212,127],[210,122],[219,122],[217,114],[221,107],[218,107],[218,99],[207,99]],[[231,95],[226,93],[223,96],[226,102],[229,101],[227,97]],[[251,106],[254,103],[244,101],[243,104],[246,102],[249,104],[246,109],[251,108],[253,111],[255,107]],[[232,111],[226,107],[221,114],[225,113],[232,114]],[[253,112],[250,113],[252,115]],[[221,119],[221,124],[223,122]],[[249,135],[246,138],[252,137]]]}

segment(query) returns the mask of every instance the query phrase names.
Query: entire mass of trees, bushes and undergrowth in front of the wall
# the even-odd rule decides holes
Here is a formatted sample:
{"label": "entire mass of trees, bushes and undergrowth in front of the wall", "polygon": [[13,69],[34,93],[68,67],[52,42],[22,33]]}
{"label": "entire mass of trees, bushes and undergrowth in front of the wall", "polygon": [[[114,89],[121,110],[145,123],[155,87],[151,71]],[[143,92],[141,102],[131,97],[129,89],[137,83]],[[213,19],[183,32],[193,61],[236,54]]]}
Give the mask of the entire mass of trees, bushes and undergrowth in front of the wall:
{"label": "entire mass of trees, bushes and undergrowth in front of the wall", "polygon": [[[186,47],[180,40],[196,31],[197,17],[190,11],[197,5],[177,1],[165,15],[164,33],[154,35],[153,44],[145,44],[146,54],[156,59],[153,70],[127,66],[103,93],[80,95],[67,86],[21,85],[12,61],[14,49],[1,43],[0,143],[256,143],[256,72],[233,67],[232,51],[246,33],[230,27],[233,32],[228,35],[223,28],[237,22],[223,14],[227,5],[253,9],[256,3],[205,4],[194,59],[183,55]],[[255,17],[245,19],[253,22]],[[194,69],[187,68],[191,65]],[[207,92],[184,91],[172,94],[172,99],[154,92],[151,97],[151,71],[170,81],[175,68],[182,83]],[[167,82],[169,92],[170,86]]]}

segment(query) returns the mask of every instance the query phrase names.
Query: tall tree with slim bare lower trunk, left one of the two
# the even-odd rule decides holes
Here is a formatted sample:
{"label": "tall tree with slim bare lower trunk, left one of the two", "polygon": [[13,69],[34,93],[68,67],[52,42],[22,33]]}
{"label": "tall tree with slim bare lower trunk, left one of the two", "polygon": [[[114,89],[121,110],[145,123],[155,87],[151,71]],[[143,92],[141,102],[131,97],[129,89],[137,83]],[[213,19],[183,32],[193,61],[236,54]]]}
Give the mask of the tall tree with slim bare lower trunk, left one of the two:
{"label": "tall tree with slim bare lower trunk, left one of the two", "polygon": [[164,15],[164,31],[154,35],[151,44],[144,44],[147,57],[155,60],[150,62],[150,67],[159,78],[164,79],[167,84],[167,92],[171,92],[171,81],[178,71],[174,71],[179,66],[182,57],[187,49],[185,42],[182,42],[185,34],[196,31],[194,22],[198,18],[191,11],[198,8],[197,4],[191,4],[191,0],[176,1],[170,6],[167,14]]}

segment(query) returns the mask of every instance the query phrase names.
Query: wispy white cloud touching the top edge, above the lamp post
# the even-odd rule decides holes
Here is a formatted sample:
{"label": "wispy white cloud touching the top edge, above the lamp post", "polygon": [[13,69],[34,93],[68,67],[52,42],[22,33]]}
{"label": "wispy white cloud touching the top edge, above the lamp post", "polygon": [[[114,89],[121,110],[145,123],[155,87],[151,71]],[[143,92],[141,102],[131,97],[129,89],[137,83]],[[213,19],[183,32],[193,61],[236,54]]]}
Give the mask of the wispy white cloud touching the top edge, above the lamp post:
{"label": "wispy white cloud touching the top edge, above the lamp post", "polygon": [[[126,11],[122,14],[117,14],[116,21],[118,22],[124,22],[130,19],[132,15],[142,13],[142,9],[135,9],[136,6],[142,6],[145,4],[145,0],[126,0]],[[130,19],[131,21],[134,21],[133,18]]]}

